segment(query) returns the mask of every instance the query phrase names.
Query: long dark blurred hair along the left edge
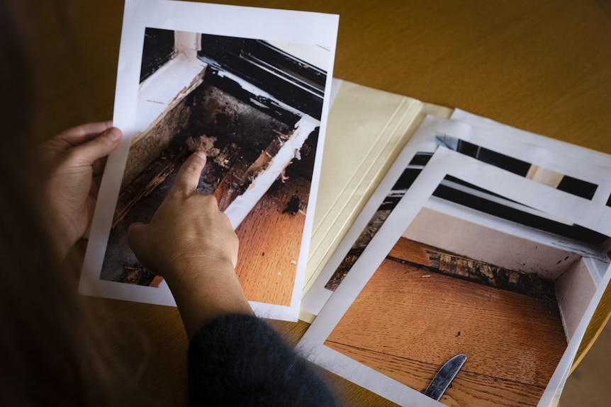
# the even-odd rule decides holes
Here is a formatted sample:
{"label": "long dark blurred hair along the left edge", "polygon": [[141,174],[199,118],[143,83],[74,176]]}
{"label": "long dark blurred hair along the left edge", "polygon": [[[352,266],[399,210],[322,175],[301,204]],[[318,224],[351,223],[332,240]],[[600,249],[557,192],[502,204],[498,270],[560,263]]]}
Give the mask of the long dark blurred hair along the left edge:
{"label": "long dark blurred hair along the left edge", "polygon": [[72,263],[53,250],[18,3],[0,0],[0,405],[140,405],[133,375],[97,328],[106,316],[77,295]]}

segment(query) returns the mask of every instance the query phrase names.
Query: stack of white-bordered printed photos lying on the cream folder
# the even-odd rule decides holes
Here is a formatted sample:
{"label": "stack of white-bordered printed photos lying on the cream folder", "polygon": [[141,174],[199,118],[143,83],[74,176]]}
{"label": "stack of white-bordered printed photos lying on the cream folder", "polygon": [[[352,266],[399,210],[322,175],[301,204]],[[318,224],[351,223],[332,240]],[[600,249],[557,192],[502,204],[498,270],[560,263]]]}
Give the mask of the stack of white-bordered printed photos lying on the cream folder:
{"label": "stack of white-bordered printed photos lying on the cream folder", "polygon": [[[400,98],[336,86],[328,137],[342,92]],[[611,275],[611,157],[441,113],[403,127],[403,149],[311,277],[298,349],[400,405],[554,405]],[[352,120],[345,140],[371,126]],[[456,355],[466,362],[440,404],[423,392]]]}

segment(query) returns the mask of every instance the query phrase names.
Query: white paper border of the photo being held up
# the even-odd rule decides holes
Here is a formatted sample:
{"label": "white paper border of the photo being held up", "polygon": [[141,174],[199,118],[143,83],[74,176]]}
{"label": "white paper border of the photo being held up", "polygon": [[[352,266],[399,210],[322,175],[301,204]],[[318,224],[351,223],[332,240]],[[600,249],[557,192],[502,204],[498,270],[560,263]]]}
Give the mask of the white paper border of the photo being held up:
{"label": "white paper border of the photo being held up", "polygon": [[[307,11],[227,6],[189,1],[125,0],[113,113],[113,125],[123,131],[123,142],[116,151],[108,156],[89,233],[89,243],[79,281],[79,293],[176,306],[176,302],[174,302],[174,298],[165,282],[162,282],[159,287],[143,287],[99,279],[123,171],[128,159],[130,142],[135,134],[141,130],[136,128],[136,116],[140,65],[142,62],[142,41],[145,28],[162,28],[259,40],[278,40],[328,47],[330,52],[326,67],[327,80],[318,144],[319,147],[322,147],[330,105],[329,95],[331,93],[338,22],[339,16],[337,15]],[[304,239],[298,258],[298,270],[291,305],[279,306],[251,302],[258,316],[288,321],[298,319],[322,156],[321,149],[321,151],[318,151],[314,163],[313,183],[308,201],[310,209],[304,226]],[[305,239],[306,237],[307,239]]]}

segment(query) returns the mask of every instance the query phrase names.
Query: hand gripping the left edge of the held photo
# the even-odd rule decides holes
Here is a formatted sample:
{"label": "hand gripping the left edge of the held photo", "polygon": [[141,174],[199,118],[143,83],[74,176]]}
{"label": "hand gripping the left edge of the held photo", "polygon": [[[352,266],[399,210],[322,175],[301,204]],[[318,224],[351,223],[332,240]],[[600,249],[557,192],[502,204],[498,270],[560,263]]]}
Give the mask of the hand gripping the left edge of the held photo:
{"label": "hand gripping the left edge of the held photo", "polygon": [[66,130],[40,147],[51,233],[65,256],[91,223],[106,156],[123,134],[111,122]]}

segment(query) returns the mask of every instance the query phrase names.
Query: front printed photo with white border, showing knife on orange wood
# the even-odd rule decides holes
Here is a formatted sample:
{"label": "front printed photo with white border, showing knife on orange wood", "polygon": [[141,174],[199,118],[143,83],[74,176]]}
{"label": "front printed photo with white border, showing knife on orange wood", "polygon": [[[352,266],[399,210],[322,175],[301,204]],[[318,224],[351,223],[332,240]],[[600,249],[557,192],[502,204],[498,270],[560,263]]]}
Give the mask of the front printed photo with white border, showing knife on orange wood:
{"label": "front printed photo with white border, showing knife on orange wood", "polygon": [[[403,403],[465,355],[441,403],[537,406],[608,273],[607,229],[566,219],[564,191],[520,197],[525,177],[444,151],[383,215],[299,349]],[[550,200],[554,211],[535,209]]]}

